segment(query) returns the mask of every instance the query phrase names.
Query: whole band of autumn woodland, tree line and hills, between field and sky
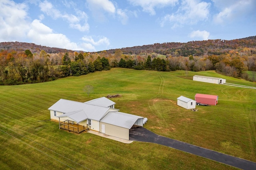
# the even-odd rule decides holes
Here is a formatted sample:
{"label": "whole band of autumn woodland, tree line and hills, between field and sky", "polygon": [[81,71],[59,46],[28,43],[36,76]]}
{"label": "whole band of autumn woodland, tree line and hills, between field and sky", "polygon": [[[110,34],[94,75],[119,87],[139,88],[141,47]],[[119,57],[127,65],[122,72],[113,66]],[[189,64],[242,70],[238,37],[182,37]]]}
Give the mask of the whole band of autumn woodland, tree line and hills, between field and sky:
{"label": "whole band of autumn woodland, tree line and hills, between field and sky", "polygon": [[[111,67],[155,71],[216,70],[231,77],[256,81],[256,36],[238,40],[155,43],[91,53],[34,43],[0,43],[0,85],[38,83]],[[250,77],[246,71],[251,71]]]}

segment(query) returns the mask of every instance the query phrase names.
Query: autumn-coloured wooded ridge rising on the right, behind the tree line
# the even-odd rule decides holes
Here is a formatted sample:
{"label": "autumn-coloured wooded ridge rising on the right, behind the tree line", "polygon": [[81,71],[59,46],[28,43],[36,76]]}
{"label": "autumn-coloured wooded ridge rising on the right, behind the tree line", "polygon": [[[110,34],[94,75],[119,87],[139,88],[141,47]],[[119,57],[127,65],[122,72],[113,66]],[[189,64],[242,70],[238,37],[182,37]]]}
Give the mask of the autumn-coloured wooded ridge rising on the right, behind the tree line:
{"label": "autumn-coloured wooded ridge rising on the right, behind the tree line", "polygon": [[[256,54],[256,36],[242,38],[238,40],[205,40],[192,41],[187,43],[169,42],[154,43],[152,45],[143,45],[136,47],[125,47],[121,50],[124,54],[140,54],[140,53],[159,53],[162,55],[171,54],[173,56],[189,56],[189,55],[220,55],[237,48],[252,48],[251,53]],[[114,53],[116,49],[108,50]]]}

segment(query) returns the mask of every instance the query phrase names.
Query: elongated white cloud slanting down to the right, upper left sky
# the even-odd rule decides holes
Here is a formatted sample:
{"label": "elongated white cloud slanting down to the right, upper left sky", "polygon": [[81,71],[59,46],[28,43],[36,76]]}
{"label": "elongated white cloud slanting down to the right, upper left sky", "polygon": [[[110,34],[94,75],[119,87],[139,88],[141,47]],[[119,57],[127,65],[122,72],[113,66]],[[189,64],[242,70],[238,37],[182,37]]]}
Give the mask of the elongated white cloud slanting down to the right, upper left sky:
{"label": "elongated white cloud slanting down to the right, upper left sky", "polygon": [[[89,24],[87,23],[88,16],[85,12],[80,10],[76,10],[78,16],[73,14],[62,14],[59,10],[54,8],[54,6],[45,0],[44,2],[40,2],[39,7],[42,12],[46,15],[51,16],[53,19],[63,18],[69,23],[70,28],[77,29],[81,32],[89,31]],[[81,24],[83,23],[83,24]]]}

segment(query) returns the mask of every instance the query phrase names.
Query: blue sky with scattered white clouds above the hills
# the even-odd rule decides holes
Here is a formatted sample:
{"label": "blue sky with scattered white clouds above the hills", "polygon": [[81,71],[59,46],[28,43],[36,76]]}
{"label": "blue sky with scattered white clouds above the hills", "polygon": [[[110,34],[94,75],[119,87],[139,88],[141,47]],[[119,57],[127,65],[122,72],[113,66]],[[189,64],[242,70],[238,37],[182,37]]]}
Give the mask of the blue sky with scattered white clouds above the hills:
{"label": "blue sky with scattered white clouds above the hills", "polygon": [[256,36],[256,0],[0,0],[0,42],[102,51]]}

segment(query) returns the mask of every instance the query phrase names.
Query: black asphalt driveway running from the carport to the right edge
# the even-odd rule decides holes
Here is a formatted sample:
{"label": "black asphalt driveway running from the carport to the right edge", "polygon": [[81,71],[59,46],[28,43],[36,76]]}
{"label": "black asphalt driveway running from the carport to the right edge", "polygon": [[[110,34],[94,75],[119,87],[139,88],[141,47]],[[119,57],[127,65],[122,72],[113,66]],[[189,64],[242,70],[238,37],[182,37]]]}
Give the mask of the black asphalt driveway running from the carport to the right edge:
{"label": "black asphalt driveway running from the carport to the right edge", "polygon": [[230,166],[234,166],[236,168],[241,168],[244,170],[256,170],[256,162],[237,158],[178,140],[166,138],[164,136],[155,134],[143,127],[131,128],[129,140],[161,144],[177,150],[195,154],[197,156],[202,156],[204,158],[215,160],[217,162],[221,162]]}

